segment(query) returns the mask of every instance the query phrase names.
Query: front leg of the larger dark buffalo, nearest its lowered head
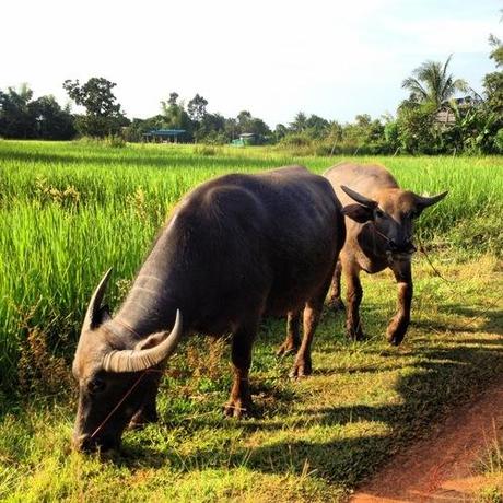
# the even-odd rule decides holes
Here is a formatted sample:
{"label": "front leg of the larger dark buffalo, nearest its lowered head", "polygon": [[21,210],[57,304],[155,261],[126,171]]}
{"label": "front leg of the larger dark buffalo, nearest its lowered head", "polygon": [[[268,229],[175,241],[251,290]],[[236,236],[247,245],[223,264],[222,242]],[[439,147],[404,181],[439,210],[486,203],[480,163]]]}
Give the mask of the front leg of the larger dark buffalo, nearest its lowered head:
{"label": "front leg of the larger dark buffalo, nearest its lowered head", "polygon": [[249,393],[248,372],[252,365],[252,348],[256,335],[253,329],[238,329],[232,339],[232,364],[234,383],[231,397],[224,407],[225,416],[241,418],[250,412],[252,394]]}

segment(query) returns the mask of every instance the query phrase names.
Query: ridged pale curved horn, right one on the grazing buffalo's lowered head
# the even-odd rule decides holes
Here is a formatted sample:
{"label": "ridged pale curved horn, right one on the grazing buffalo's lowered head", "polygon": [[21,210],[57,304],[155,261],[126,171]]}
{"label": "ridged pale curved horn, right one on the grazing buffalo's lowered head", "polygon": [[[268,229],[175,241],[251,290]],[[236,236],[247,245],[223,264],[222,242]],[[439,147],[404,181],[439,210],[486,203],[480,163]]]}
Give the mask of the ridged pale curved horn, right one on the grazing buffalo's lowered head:
{"label": "ridged pale curved horn, right one on the grazing buffalo's lowered head", "polygon": [[140,372],[159,365],[171,356],[182,337],[182,314],[176,311],[176,320],[169,336],[154,348],[136,350],[125,349],[110,351],[103,359],[103,369],[106,372]]}

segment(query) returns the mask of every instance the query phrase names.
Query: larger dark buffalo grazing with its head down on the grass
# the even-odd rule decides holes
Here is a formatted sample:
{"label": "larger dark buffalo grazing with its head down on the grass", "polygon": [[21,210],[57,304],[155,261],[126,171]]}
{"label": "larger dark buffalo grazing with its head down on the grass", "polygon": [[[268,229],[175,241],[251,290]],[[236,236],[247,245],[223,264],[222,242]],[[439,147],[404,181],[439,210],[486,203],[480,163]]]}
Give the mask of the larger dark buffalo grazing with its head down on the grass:
{"label": "larger dark buffalo grazing with its head down on the grass", "polygon": [[128,424],[156,420],[159,371],[185,334],[232,334],[227,416],[252,406],[248,370],[262,315],[304,308],[295,367],[311,365],[311,341],[344,233],[330,184],[301,166],[226,175],[189,192],[117,314],[102,306],[110,271],[91,299],[73,361],[75,447],[117,447]]}

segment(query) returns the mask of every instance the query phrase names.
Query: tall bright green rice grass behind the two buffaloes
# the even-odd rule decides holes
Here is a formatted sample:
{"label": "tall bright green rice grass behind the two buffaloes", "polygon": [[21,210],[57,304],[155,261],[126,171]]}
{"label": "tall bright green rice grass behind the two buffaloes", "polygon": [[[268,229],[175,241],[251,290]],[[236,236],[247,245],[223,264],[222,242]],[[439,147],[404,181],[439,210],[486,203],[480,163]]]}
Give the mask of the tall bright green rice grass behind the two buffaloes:
{"label": "tall bright green rice grass behind the two buffaloes", "polygon": [[[169,209],[194,186],[291,163],[319,173],[340,161],[267,149],[214,148],[207,155],[187,145],[0,141],[1,383],[15,382],[20,350],[35,328],[71,355],[101,274],[114,266],[116,280],[131,278]],[[466,246],[503,242],[501,157],[359,159],[371,161],[418,192],[449,189],[421,219],[424,235]],[[114,303],[117,283],[110,293]]]}

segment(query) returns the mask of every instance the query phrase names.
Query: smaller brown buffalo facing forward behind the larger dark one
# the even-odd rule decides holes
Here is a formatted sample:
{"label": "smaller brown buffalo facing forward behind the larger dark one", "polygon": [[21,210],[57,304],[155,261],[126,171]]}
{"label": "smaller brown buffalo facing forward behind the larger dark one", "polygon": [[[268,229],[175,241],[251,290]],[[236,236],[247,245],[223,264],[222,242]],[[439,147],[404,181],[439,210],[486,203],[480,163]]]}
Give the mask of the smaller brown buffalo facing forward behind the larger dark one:
{"label": "smaller brown buffalo facing forward behind the larger dark one", "polygon": [[359,307],[363,292],[360,271],[373,274],[389,267],[398,283],[398,311],[387,327],[386,336],[391,344],[398,346],[410,321],[410,262],[416,252],[412,244],[413,220],[447,192],[423,197],[402,190],[391,174],[381,166],[340,164],[328,169],[324,176],[329,179],[342,204],[352,200],[359,203],[343,209],[347,238],[334,274],[331,302],[343,307],[340,299],[340,277],[343,272],[348,289],[348,336],[362,338]]}

